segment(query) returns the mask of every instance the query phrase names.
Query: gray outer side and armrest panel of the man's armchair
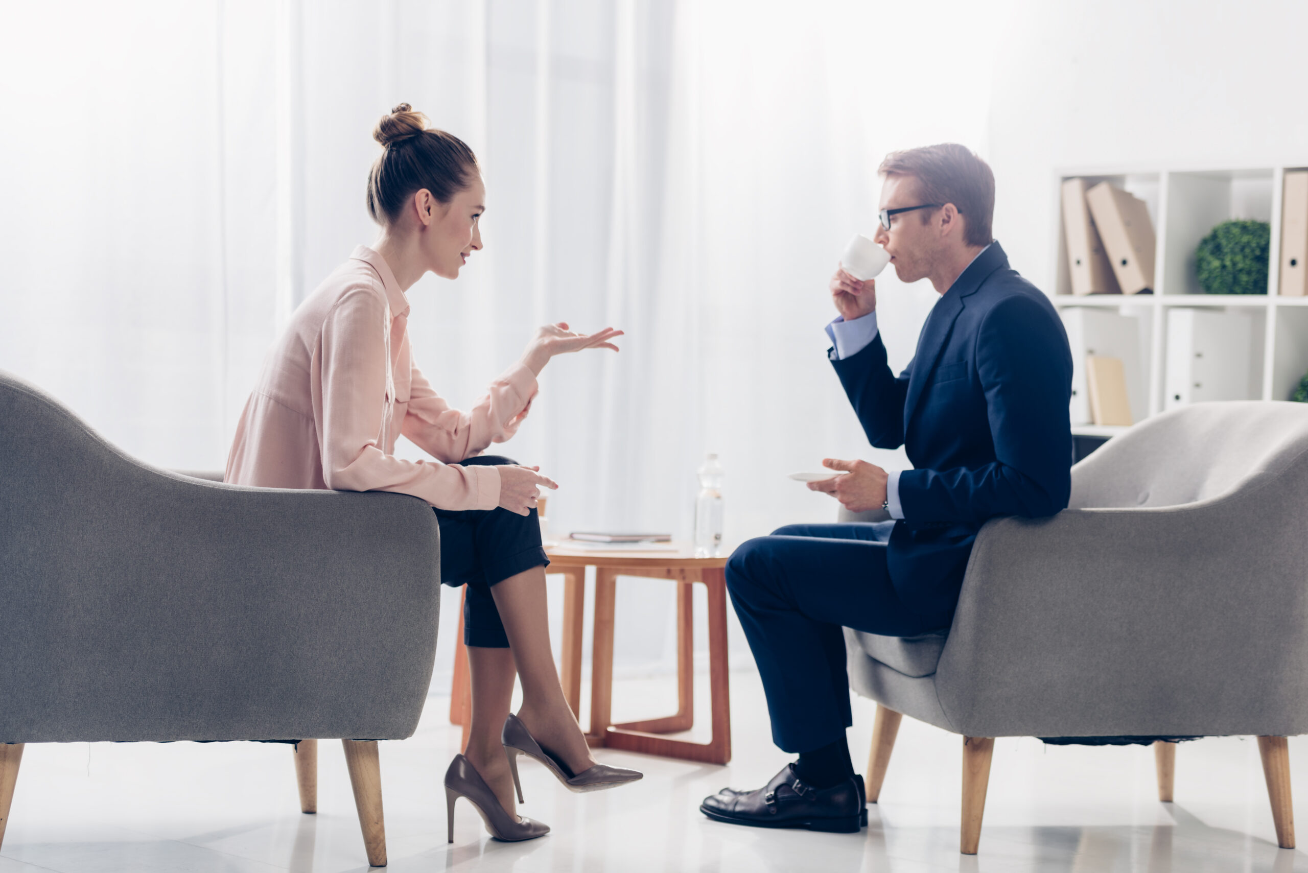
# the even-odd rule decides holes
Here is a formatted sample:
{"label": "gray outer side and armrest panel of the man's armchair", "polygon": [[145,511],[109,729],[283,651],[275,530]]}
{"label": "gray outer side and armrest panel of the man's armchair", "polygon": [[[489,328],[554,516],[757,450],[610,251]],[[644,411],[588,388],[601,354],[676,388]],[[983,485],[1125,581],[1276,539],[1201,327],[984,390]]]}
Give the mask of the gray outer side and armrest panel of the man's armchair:
{"label": "gray outer side and armrest panel of the man's armchair", "polygon": [[982,528],[937,672],[969,736],[1308,732],[1308,482]]}

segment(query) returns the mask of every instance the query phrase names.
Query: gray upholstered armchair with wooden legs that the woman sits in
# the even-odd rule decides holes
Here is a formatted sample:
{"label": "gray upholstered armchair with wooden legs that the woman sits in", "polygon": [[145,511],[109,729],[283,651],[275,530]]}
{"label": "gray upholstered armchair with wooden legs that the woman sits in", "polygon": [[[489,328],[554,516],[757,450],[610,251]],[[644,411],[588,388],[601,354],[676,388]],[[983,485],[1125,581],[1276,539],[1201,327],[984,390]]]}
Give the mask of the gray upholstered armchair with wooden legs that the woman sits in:
{"label": "gray upholstered armchair with wooden legs that the woman sits in", "polygon": [[0,372],[0,839],[24,744],[283,740],[317,809],[340,737],[371,864],[377,740],[417,727],[436,656],[430,507],[143,464]]}

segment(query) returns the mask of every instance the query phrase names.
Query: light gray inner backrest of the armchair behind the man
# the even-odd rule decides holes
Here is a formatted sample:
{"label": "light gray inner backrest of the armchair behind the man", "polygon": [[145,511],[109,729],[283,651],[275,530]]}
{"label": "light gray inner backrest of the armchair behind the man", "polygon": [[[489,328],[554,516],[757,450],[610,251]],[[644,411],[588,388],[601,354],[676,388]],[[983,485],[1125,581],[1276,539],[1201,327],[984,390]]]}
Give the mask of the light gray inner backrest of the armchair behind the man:
{"label": "light gray inner backrest of the armchair behind the man", "polygon": [[1210,501],[1308,463],[1308,404],[1202,403],[1154,416],[1071,469],[1070,508]]}

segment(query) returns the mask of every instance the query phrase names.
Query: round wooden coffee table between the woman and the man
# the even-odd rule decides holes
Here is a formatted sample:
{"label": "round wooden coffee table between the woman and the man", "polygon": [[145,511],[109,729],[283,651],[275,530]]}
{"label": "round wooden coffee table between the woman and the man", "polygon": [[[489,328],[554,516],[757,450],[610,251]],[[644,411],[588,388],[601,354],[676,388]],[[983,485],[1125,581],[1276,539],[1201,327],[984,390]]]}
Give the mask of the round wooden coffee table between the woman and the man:
{"label": "round wooden coffee table between the woman and the man", "polygon": [[[696,558],[687,545],[649,550],[589,549],[572,544],[549,546],[549,572],[564,575],[564,639],[559,678],[573,712],[581,714],[581,642],[585,621],[586,567],[595,567],[595,622],[591,642],[591,746],[624,749],[664,758],[725,765],[731,759],[731,706],[727,678],[726,555]],[[613,724],[613,608],[619,576],[671,579],[676,585],[676,714],[661,719]],[[662,736],[689,731],[695,724],[695,638],[692,585],[708,588],[709,691],[712,740],[691,742]],[[450,721],[464,725],[467,745],[467,653],[463,650],[462,609],[454,664]]]}

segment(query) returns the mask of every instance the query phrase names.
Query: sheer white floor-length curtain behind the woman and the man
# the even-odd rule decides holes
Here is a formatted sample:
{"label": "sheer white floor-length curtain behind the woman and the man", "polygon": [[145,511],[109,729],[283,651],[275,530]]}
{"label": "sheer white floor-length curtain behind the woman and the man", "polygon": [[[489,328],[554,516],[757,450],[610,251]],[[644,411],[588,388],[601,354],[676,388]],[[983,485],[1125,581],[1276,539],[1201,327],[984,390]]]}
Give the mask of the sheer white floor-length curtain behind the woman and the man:
{"label": "sheer white floor-length curtain behind the woman and the man", "polygon": [[[824,359],[825,282],[875,226],[884,152],[985,153],[989,10],[132,0],[7,21],[0,367],[150,463],[222,465],[279,325],[373,239],[370,131],[407,101],[489,188],[485,251],[409,293],[437,389],[472,401],[547,320],[628,332],[553,362],[504,447],[562,484],[556,531],[688,535],[706,451],[729,541],[833,518],[783,478],[823,456],[906,464],[867,447]],[[886,276],[901,366],[935,295]],[[621,597],[619,665],[668,667],[671,591]]]}

